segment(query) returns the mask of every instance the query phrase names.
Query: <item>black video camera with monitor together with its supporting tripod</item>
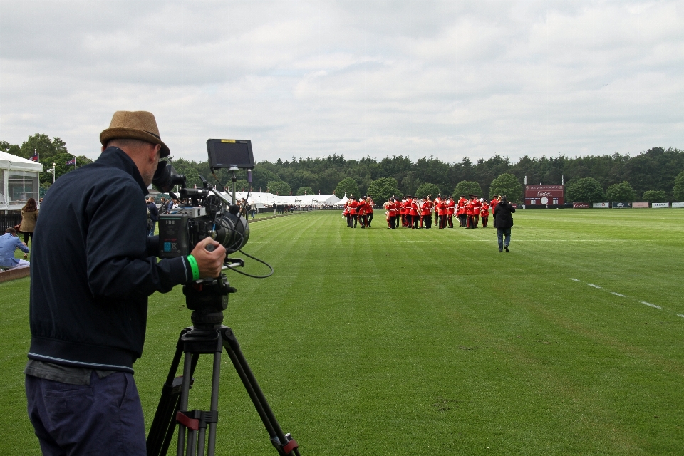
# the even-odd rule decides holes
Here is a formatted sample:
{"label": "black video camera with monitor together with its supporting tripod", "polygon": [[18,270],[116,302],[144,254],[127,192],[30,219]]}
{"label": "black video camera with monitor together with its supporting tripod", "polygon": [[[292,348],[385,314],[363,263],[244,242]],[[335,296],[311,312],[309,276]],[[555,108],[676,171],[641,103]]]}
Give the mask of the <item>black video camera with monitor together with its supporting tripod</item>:
{"label": "black video camera with monitor together with its supporting tripod", "polygon": [[[184,175],[177,174],[170,163],[159,162],[152,183],[160,192],[167,192],[183,203],[183,207],[174,209],[171,214],[160,214],[158,256],[161,258],[190,254],[197,243],[206,237],[212,237],[222,244],[227,254],[237,252],[247,244],[247,217],[242,217],[240,208],[235,204],[235,172],[240,169],[247,170],[247,181],[251,183],[251,171],[254,168],[252,142],[210,139],[207,140],[207,152],[212,174],[217,168],[227,168],[233,172],[232,200],[214,189],[202,176],[201,189],[187,188]],[[180,186],[178,195],[172,192],[176,185]],[[213,247],[213,244],[209,244],[207,249],[210,247]],[[250,257],[244,252],[242,254]],[[257,258],[250,258],[266,264]],[[223,270],[237,271],[238,266],[244,266],[242,259],[224,259]],[[272,274],[273,268],[269,268]],[[267,277],[244,272],[241,274],[256,278]],[[192,310],[192,326],[183,329],[178,338],[169,374],[162,387],[157,412],[147,435],[147,455],[166,455],[177,430],[177,455],[204,455],[206,445],[207,456],[214,456],[219,416],[221,355],[225,350],[269,433],[271,444],[281,456],[299,456],[299,445],[290,434],[284,433],[281,429],[242,354],[235,334],[231,328],[222,324],[223,311],[228,306],[228,294],[236,291],[223,273],[215,278],[199,279],[183,286],[185,304]],[[185,360],[182,375],[177,377],[183,354]],[[190,388],[195,382],[193,374],[201,354],[214,356],[210,409],[187,410]]]}

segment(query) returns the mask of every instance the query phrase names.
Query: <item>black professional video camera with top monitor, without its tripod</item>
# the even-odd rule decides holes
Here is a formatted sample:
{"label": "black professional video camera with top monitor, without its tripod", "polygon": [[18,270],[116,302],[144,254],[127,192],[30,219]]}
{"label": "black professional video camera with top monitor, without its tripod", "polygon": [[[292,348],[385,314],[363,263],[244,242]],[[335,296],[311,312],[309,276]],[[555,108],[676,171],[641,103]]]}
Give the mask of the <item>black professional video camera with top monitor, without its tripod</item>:
{"label": "black professional video camera with top monitor, without its tripod", "polygon": [[[207,140],[209,164],[212,172],[227,167],[233,171],[247,169],[251,177],[254,168],[252,142],[249,140]],[[190,254],[197,242],[212,237],[228,254],[242,249],[249,239],[247,217],[240,216],[240,208],[218,192],[204,177],[202,188],[186,188],[185,175],[176,173],[175,168],[165,161],[159,162],[152,184],[157,190],[169,193],[174,199],[185,202],[171,214],[160,214],[159,253],[160,258],[180,257]],[[235,180],[235,179],[234,179]],[[251,180],[251,179],[249,179]],[[171,190],[180,186],[178,195]],[[234,189],[233,189],[234,190]]]}

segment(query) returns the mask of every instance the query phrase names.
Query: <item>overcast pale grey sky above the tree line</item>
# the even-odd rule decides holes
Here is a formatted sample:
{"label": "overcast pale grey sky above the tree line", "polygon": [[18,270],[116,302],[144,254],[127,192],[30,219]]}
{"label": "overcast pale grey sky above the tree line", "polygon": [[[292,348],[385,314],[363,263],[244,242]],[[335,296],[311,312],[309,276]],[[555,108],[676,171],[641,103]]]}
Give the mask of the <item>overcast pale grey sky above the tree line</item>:
{"label": "overcast pale grey sky above the tree line", "polygon": [[149,110],[172,155],[684,148],[681,1],[0,0],[0,140],[99,155]]}

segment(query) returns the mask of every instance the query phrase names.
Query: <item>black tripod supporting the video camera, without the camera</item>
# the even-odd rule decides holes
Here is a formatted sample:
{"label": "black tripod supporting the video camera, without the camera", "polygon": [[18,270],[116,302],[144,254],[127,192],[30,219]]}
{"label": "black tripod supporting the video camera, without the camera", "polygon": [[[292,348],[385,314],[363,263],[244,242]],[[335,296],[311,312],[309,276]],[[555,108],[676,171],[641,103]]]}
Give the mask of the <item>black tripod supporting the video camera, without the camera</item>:
{"label": "black tripod supporting the video camera, without the camera", "polygon": [[[237,261],[242,264],[242,260]],[[228,294],[236,289],[229,286],[224,274],[218,279],[204,279],[183,286],[185,303],[192,310],[192,327],[181,331],[176,344],[176,352],[171,362],[169,375],[162,388],[162,395],[157,406],[155,419],[152,421],[150,434],[147,435],[147,455],[164,456],[171,443],[175,427],[178,425],[177,456],[204,455],[204,444],[207,444],[207,455],[214,456],[216,446],[216,423],[218,421],[219,380],[221,378],[221,355],[228,353],[237,375],[252,399],[259,413],[271,443],[279,455],[299,456],[296,440],[281,430],[264,393],[259,388],[257,379],[244,358],[240,345],[231,328],[223,326],[223,312],[228,306]],[[185,353],[183,374],[175,377],[180,364],[181,353]],[[209,411],[187,410],[188,395],[194,381],[199,355],[214,355],[212,371],[212,395]],[[207,425],[209,436],[207,439]]]}

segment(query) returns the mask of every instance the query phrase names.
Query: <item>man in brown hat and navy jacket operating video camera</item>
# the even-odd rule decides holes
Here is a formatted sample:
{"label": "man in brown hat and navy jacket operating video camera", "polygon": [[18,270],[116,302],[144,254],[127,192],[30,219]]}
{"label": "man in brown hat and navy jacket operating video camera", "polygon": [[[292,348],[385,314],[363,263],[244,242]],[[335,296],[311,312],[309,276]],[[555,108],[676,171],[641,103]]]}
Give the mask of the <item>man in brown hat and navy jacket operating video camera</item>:
{"label": "man in brown hat and navy jacket operating video camera", "polygon": [[187,257],[157,261],[143,197],[170,151],[152,113],[116,112],[100,142],[98,160],[50,188],[33,238],[24,372],[44,455],[145,455],[133,363],[147,296],[219,276],[226,255],[206,238]]}

